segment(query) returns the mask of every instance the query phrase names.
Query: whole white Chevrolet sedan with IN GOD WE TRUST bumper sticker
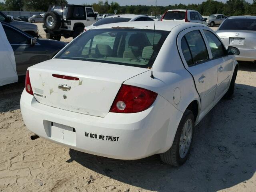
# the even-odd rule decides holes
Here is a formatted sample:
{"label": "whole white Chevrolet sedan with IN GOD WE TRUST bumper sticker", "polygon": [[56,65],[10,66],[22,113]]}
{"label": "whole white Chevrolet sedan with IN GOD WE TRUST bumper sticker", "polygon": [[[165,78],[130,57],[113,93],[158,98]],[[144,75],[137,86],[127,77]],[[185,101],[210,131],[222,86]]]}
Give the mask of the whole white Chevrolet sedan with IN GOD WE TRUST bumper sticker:
{"label": "whole white Chevrolet sedan with IN GOD WE TRUST bumper sticker", "polygon": [[22,117],[36,135],[75,150],[124,160],[160,154],[182,165],[195,125],[232,97],[233,54],[202,24],[98,26],[28,68]]}

